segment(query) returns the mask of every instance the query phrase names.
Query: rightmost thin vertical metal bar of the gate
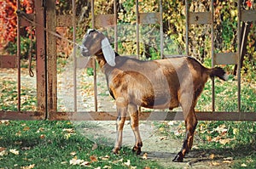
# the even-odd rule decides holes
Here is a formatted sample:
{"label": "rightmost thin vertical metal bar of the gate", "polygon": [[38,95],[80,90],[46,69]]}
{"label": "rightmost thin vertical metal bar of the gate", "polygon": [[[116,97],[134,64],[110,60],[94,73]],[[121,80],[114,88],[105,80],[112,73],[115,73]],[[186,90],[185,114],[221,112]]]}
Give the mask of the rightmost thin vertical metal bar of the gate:
{"label": "rightmost thin vertical metal bar of the gate", "polygon": [[241,112],[241,1],[237,3],[237,111]]}

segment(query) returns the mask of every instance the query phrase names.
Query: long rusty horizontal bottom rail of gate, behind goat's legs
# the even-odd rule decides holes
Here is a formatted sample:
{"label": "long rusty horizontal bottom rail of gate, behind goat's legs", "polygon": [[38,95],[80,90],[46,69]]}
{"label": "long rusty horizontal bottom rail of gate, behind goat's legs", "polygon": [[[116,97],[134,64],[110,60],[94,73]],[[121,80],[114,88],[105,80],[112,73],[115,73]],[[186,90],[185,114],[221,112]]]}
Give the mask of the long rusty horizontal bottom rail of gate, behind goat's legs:
{"label": "long rusty horizontal bottom rail of gate, behind goat's legs", "polygon": [[[44,120],[37,111],[0,111],[2,120]],[[256,121],[255,112],[218,112],[196,111],[199,121]],[[56,112],[49,115],[51,121],[115,121],[115,111],[83,111],[83,112]],[[182,111],[143,111],[139,113],[140,121],[183,121]],[[127,116],[126,120],[130,120]]]}

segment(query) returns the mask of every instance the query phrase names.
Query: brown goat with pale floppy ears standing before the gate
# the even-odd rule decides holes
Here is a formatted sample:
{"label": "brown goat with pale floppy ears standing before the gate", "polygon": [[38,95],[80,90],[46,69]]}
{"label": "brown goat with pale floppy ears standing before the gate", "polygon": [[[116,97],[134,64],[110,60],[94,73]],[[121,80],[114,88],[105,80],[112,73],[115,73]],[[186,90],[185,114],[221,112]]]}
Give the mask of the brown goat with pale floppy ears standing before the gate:
{"label": "brown goat with pale floppy ears standing before the gate", "polygon": [[195,104],[208,77],[218,76],[227,79],[222,68],[208,69],[191,57],[176,57],[143,61],[131,59],[113,51],[102,32],[89,30],[84,35],[81,54],[95,55],[105,74],[108,90],[116,101],[117,136],[113,153],[117,154],[122,144],[123,127],[126,115],[131,118],[131,129],[136,143],[133,151],[141,154],[143,146],[138,127],[139,107],[150,109],[169,109],[178,106],[183,109],[186,137],[182,149],[173,161],[183,161],[192,148],[197,119]]}

